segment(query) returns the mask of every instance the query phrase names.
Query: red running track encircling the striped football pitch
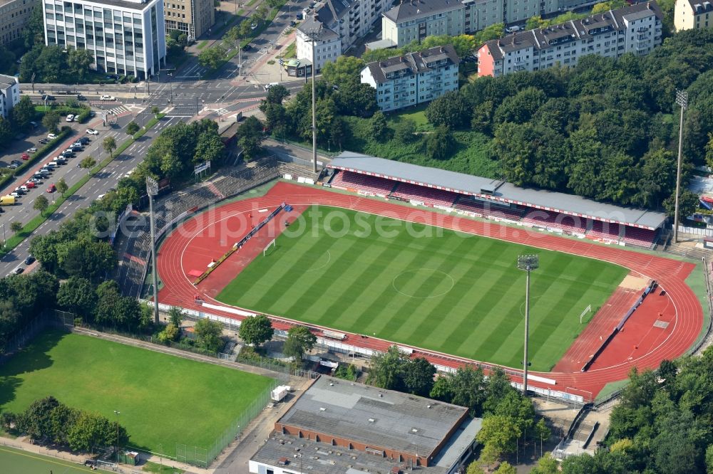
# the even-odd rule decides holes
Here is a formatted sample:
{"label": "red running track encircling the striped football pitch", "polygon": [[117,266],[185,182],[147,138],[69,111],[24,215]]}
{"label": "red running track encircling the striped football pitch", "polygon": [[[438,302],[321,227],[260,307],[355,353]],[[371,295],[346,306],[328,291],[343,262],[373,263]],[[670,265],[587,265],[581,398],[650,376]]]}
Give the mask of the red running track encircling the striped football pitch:
{"label": "red running track encircling the striped football pitch", "polygon": [[[158,273],[164,284],[164,288],[160,291],[159,300],[169,305],[178,305],[199,311],[205,310],[205,307],[201,307],[195,302],[195,295],[200,294],[207,302],[214,302],[211,300],[215,290],[222,288],[227,281],[230,281],[230,278],[235,278],[236,272],[257,256],[264,248],[265,243],[282,231],[283,225],[280,223],[281,221],[264,228],[260,231],[259,238],[251,239],[240,252],[229,259],[242,260],[242,263],[237,265],[235,263],[223,264],[226,265],[226,270],[231,270],[227,272],[230,273],[230,278],[227,278],[227,274],[215,279],[211,275],[201,283],[200,288],[195,288],[192,283],[193,278],[188,277],[188,272],[193,269],[205,269],[205,266],[213,258],[220,258],[235,241],[240,240],[249,231],[252,225],[262,220],[261,214],[263,216],[266,214],[260,213],[260,209],[270,209],[272,211],[284,201],[294,206],[295,212],[292,216],[283,214],[280,217],[281,219],[294,217],[294,214],[304,209],[304,206],[314,204],[336,206],[391,218],[400,218],[404,221],[451,228],[456,231],[498,238],[535,248],[597,258],[625,266],[640,273],[640,275],[659,282],[660,288],[666,290],[667,297],[655,300],[655,297],[659,297],[658,292],[650,295],[645,300],[646,307],[651,306],[650,309],[645,309],[645,305],[642,305],[640,310],[637,310],[635,316],[630,319],[630,322],[627,322],[625,331],[615,337],[615,344],[611,344],[610,347],[605,349],[600,360],[588,372],[582,373],[578,372],[578,370],[574,372],[535,372],[537,375],[557,381],[557,386],[548,386],[548,388],[567,390],[573,393],[580,392],[580,394],[590,392],[595,396],[608,382],[627,378],[627,374],[632,367],[655,369],[662,359],[674,359],[684,354],[695,342],[703,325],[702,307],[696,295],[685,283],[685,279],[695,266],[692,263],[627,251],[617,247],[601,246],[587,241],[575,241],[536,231],[528,231],[523,228],[501,226],[490,221],[474,221],[461,216],[445,215],[426,209],[400,206],[388,201],[338,194],[332,191],[284,182],[279,182],[265,196],[260,198],[225,204],[217,209],[194,216],[173,231],[165,239],[159,252]],[[251,217],[249,218],[248,216]],[[231,267],[230,265],[234,266]],[[220,273],[223,272],[221,271]],[[648,300],[652,302],[648,303]],[[216,304],[223,305],[218,302]],[[661,305],[665,305],[665,307],[662,308],[660,307]],[[652,322],[651,315],[653,315],[654,320],[660,319],[658,317],[660,310],[666,312],[666,316],[663,319],[668,322],[664,336],[651,333],[650,327],[640,327]],[[238,320],[242,319],[242,317],[231,312],[221,312],[219,310],[209,310],[208,312]],[[640,321],[637,322],[638,320]],[[277,317],[275,326],[284,328],[289,327],[292,323],[297,324],[296,321],[292,322],[291,320]],[[648,332],[653,335],[642,339],[642,332]],[[637,343],[639,343],[639,347],[634,349]],[[361,338],[358,335],[352,335],[349,337],[349,344],[383,350],[390,343],[382,339]],[[448,361],[440,357],[430,357],[430,359],[432,362],[451,365],[452,367],[472,362],[468,361],[468,359],[448,357]],[[543,386],[538,383],[534,385]]]}

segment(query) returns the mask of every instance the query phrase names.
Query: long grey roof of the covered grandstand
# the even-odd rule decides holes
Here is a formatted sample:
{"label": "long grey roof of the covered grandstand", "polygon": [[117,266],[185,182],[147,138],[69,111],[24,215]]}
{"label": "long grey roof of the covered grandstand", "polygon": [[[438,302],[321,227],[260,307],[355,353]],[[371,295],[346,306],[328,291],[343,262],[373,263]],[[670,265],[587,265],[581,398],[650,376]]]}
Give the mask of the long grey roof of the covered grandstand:
{"label": "long grey roof of the covered grandstand", "polygon": [[455,191],[483,199],[573,214],[598,221],[625,223],[628,226],[652,230],[660,227],[666,220],[666,215],[661,212],[605,204],[573,194],[522,188],[497,179],[421,167],[354,152],[343,152],[332,160],[329,167]]}

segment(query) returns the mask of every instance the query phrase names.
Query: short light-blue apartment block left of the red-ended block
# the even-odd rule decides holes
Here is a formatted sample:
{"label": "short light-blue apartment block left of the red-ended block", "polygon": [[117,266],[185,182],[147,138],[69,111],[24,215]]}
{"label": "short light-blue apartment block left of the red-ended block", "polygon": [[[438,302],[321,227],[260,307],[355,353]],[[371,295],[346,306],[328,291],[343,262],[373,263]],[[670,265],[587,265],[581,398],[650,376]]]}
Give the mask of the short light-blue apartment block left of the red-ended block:
{"label": "short light-blue apartment block left of the red-ended block", "polygon": [[396,110],[458,90],[459,62],[453,46],[438,46],[369,63],[361,70],[361,83],[376,89],[381,110]]}

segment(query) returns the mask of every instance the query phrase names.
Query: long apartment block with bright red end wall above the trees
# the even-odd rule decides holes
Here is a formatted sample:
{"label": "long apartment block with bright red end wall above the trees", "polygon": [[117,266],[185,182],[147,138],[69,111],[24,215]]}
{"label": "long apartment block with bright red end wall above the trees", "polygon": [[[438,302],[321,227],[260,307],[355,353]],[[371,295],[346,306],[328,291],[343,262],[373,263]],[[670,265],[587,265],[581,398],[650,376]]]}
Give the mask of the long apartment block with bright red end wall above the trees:
{"label": "long apartment block with bright red end wall above the trees", "polygon": [[478,76],[575,65],[582,56],[643,56],[662,43],[662,14],[655,1],[626,6],[548,28],[513,33],[478,50]]}

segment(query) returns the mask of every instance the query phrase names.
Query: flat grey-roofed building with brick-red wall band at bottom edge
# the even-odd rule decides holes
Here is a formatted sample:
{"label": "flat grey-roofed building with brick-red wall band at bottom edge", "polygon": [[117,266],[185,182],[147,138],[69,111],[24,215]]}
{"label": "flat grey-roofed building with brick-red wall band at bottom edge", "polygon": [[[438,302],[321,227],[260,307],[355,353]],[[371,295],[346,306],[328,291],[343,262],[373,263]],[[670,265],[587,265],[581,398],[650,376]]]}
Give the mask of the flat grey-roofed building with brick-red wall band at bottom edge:
{"label": "flat grey-roofed building with brick-red wall band at bottom edge", "polygon": [[463,406],[322,376],[275,423],[250,473],[456,472],[481,420]]}

